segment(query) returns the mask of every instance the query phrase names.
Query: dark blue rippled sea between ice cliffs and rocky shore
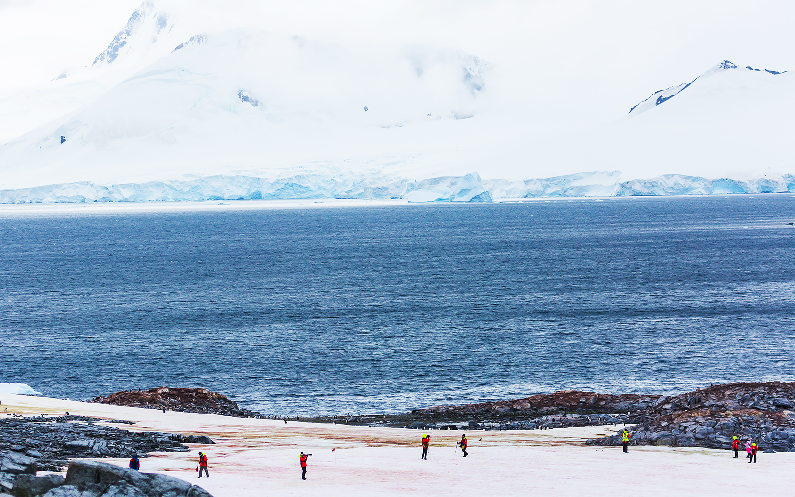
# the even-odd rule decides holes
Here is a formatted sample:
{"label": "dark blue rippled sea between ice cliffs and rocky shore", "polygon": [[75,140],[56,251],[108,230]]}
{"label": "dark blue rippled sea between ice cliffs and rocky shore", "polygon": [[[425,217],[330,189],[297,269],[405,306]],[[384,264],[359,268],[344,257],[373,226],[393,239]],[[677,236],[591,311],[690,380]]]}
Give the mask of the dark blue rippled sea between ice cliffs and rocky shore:
{"label": "dark blue rippled sea between ice cliffs and rocky shore", "polygon": [[793,381],[793,220],[792,194],[0,209],[0,382],[315,415]]}

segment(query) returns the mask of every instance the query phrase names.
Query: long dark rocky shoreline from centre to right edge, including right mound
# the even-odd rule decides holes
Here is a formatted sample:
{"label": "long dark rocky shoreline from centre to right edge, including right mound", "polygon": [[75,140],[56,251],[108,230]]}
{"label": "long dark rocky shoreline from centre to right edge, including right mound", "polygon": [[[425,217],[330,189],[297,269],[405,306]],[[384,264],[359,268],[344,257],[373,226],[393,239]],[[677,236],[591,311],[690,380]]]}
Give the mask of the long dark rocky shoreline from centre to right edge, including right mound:
{"label": "long dark rocky shoreline from centre to right edge, including right mound", "polygon": [[[431,406],[392,416],[301,421],[411,429],[506,430],[626,425],[630,445],[730,448],[732,437],[762,450],[795,451],[795,382],[740,382],[675,396],[562,390],[463,406]],[[587,445],[621,445],[615,435]]]}

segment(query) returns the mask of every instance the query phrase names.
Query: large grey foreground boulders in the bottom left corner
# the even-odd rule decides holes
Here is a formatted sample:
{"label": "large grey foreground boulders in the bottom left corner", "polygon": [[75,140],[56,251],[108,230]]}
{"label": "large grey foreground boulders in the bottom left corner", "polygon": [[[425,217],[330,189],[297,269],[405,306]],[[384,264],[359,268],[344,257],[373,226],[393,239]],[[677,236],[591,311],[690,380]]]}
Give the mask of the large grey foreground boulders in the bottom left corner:
{"label": "large grey foreground boulders in the bottom left corner", "polygon": [[91,460],[73,460],[66,478],[36,472],[36,459],[11,452],[0,461],[0,491],[17,497],[212,497],[204,488],[173,476]]}

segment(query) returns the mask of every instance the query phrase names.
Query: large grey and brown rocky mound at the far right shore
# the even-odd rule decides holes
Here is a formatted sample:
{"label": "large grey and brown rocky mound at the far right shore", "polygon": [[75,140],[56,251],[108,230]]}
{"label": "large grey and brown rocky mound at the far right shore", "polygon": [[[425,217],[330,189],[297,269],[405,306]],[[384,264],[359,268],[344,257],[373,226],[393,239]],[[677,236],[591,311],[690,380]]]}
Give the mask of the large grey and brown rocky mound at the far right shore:
{"label": "large grey and brown rocky mound at the far right shore", "polygon": [[[661,397],[634,414],[631,445],[730,448],[750,438],[762,450],[795,451],[795,382],[729,383]],[[619,435],[588,445],[620,445]]]}

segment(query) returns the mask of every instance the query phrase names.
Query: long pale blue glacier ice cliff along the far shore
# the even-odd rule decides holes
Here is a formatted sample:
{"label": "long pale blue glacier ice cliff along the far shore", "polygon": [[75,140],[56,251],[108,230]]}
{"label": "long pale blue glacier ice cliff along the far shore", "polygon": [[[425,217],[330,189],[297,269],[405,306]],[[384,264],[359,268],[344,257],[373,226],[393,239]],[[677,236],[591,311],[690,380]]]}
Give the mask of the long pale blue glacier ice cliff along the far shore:
{"label": "long pale blue glacier ice cliff along the far shore", "polygon": [[409,202],[491,202],[504,198],[726,195],[795,192],[795,177],[784,174],[748,181],[708,180],[669,174],[651,180],[619,181],[620,173],[577,173],[529,180],[487,180],[478,173],[428,180],[296,174],[268,180],[247,176],[187,177],[141,184],[95,184],[91,181],[0,190],[0,204],[84,202],[173,202],[198,200],[401,199]]}

